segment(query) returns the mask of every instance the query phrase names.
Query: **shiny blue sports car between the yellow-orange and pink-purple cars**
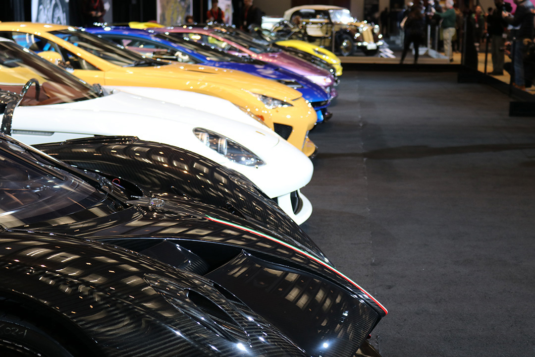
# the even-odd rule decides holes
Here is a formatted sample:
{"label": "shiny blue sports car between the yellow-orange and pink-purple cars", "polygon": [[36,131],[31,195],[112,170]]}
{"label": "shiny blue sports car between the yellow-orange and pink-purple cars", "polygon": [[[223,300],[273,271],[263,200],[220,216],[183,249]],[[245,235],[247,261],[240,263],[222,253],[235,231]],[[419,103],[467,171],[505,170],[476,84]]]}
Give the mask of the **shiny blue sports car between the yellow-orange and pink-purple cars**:
{"label": "shiny blue sports car between the yellow-orange and pink-purple cars", "polygon": [[305,100],[309,101],[316,110],[318,123],[331,117],[331,113],[327,111],[333,98],[331,93],[326,93],[322,87],[292,71],[259,60],[227,54],[193,41],[178,40],[176,37],[154,33],[150,30],[129,27],[94,27],[87,28],[86,31],[140,52],[147,57],[205,64],[276,80],[303,94]]}

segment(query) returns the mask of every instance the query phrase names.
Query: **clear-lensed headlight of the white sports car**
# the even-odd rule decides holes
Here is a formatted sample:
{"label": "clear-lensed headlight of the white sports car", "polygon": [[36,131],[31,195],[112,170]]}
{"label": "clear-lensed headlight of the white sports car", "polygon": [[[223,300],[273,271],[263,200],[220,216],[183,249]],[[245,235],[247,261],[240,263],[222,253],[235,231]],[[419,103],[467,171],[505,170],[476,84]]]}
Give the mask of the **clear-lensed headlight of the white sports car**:
{"label": "clear-lensed headlight of the white sports car", "polygon": [[206,130],[204,128],[195,128],[193,130],[197,139],[201,140],[204,145],[217,151],[218,154],[225,156],[230,161],[246,166],[262,166],[265,162],[239,143],[228,139],[226,136]]}

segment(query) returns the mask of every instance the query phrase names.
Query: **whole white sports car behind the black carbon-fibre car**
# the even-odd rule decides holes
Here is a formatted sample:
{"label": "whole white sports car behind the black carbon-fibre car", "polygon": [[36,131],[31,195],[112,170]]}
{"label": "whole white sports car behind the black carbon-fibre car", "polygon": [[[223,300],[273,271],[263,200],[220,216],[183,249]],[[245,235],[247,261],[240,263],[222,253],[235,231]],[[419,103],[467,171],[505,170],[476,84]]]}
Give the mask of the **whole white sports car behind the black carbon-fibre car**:
{"label": "whole white sports car behind the black carbon-fibre car", "polygon": [[[0,41],[0,49],[0,88],[24,95],[12,124],[19,140],[35,145],[94,135],[137,135],[192,150],[241,172],[297,223],[310,216],[310,201],[299,191],[312,176],[310,159],[233,104],[159,88],[108,93],[15,43]],[[198,110],[192,104],[208,108]],[[225,112],[236,120],[222,117]]]}

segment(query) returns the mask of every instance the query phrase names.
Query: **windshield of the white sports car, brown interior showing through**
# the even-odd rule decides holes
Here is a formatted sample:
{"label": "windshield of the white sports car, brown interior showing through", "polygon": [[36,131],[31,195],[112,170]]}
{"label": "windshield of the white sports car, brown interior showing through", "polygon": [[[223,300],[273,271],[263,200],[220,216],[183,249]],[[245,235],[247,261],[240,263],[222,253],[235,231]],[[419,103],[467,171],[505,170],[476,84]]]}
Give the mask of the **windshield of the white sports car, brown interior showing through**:
{"label": "windshield of the white sports car, brown interior showing through", "polygon": [[22,105],[70,103],[100,95],[86,82],[31,51],[12,42],[0,42],[0,89],[20,94],[30,79],[35,79],[40,89],[30,87]]}

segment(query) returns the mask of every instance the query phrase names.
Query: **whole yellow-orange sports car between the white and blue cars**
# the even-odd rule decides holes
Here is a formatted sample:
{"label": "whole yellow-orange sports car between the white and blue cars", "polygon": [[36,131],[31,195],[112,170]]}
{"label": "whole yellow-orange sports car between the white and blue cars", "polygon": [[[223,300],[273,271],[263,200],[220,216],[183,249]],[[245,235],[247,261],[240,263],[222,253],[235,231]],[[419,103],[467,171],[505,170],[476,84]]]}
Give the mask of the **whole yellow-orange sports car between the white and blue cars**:
{"label": "whole yellow-orange sports car between the white and blue cars", "polygon": [[89,83],[190,90],[233,102],[311,156],[308,139],[317,116],[300,92],[240,71],[156,61],[81,29],[30,22],[0,22],[0,37],[58,62]]}

